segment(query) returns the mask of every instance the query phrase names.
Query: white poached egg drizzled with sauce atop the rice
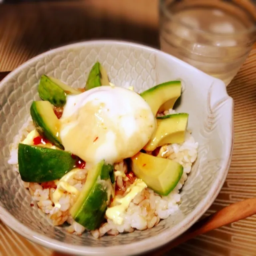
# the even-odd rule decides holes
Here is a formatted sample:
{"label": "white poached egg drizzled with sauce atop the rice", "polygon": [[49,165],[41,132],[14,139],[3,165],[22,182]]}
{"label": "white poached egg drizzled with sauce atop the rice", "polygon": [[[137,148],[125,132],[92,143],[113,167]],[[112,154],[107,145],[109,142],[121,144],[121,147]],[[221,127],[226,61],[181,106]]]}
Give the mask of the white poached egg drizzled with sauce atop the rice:
{"label": "white poached egg drizzled with sauce atop the rice", "polygon": [[65,150],[90,163],[116,163],[135,155],[156,127],[140,95],[113,86],[68,95],[60,123]]}

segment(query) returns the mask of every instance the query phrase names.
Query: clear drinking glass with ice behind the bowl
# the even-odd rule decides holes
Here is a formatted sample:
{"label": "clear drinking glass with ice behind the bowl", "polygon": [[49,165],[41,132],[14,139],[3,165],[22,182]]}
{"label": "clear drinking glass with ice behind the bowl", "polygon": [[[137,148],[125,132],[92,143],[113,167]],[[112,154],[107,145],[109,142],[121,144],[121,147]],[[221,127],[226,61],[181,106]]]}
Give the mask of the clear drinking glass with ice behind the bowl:
{"label": "clear drinking glass with ice behind the bowl", "polygon": [[228,85],[256,41],[254,3],[160,0],[161,50]]}

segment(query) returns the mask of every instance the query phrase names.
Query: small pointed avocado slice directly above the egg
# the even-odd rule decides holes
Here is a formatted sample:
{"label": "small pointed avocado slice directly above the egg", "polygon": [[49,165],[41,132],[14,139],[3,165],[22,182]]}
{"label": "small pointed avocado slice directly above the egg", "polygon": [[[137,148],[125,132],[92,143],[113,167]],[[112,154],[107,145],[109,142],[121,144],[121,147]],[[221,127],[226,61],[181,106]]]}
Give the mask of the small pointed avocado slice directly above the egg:
{"label": "small pointed avocado slice directly above the egg", "polygon": [[109,79],[107,71],[99,62],[96,62],[89,73],[85,90],[93,89],[101,85],[109,85]]}

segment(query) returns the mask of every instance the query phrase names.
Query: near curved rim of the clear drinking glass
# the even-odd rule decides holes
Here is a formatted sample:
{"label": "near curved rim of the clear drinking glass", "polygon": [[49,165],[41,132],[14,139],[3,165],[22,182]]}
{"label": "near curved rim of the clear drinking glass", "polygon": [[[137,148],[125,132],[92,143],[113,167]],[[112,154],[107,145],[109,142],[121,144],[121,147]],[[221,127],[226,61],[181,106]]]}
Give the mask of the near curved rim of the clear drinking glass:
{"label": "near curved rim of the clear drinking glass", "polygon": [[163,11],[163,13],[168,18],[170,18],[171,20],[175,20],[175,22],[181,24],[182,26],[185,26],[186,28],[188,28],[190,30],[200,32],[202,34],[209,34],[209,35],[227,37],[227,36],[234,36],[234,35],[239,35],[239,34],[250,34],[250,33],[256,32],[256,19],[255,19],[255,24],[254,25],[252,25],[248,29],[240,30],[239,32],[235,32],[235,33],[208,32],[208,31],[205,31],[205,30],[201,30],[199,28],[194,28],[194,27],[190,26],[189,24],[187,24],[185,22],[182,22],[181,20],[173,18],[172,12],[166,8],[165,0],[159,0],[159,9],[161,9]]}

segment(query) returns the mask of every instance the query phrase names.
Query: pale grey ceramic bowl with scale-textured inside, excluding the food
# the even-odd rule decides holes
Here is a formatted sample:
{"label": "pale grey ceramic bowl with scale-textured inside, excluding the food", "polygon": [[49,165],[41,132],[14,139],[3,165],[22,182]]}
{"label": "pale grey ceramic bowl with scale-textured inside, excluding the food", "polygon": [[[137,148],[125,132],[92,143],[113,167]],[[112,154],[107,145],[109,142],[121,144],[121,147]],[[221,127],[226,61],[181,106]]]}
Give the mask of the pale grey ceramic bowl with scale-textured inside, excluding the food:
{"label": "pale grey ceramic bowl with scale-textured inside, excluding the food", "polygon": [[[189,113],[189,129],[199,142],[198,159],[181,191],[179,211],[150,230],[98,240],[53,227],[36,207],[20,177],[7,163],[14,136],[29,116],[42,74],[83,87],[96,61],[112,83],[142,92],[159,83],[182,81],[177,111]],[[161,246],[179,236],[210,207],[231,161],[233,100],[224,83],[159,50],[139,44],[99,40],[71,44],[32,58],[0,83],[0,218],[10,228],[43,246],[79,255],[132,255]]]}

